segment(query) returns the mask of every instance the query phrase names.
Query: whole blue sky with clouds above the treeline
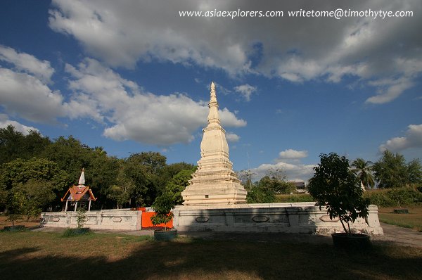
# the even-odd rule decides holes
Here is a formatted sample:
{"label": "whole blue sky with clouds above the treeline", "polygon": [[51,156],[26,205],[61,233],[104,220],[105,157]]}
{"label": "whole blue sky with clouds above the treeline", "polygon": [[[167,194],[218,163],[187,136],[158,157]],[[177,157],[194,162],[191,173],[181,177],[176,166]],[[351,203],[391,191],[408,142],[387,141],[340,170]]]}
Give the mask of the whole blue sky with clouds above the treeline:
{"label": "whole blue sky with clouds above the treeline", "polygon": [[[414,14],[288,17],[300,8]],[[238,9],[284,16],[179,16]],[[196,163],[214,81],[235,170],[307,180],[320,153],[422,158],[421,12],[418,0],[1,1],[0,127]]]}

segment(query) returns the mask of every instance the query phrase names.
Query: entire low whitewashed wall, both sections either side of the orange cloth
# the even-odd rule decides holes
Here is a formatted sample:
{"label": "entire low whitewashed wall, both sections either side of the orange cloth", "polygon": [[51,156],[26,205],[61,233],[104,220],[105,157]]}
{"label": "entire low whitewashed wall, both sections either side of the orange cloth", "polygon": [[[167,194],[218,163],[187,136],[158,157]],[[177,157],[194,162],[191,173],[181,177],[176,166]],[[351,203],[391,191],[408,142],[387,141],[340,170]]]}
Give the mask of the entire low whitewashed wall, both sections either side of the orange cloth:
{"label": "entire low whitewashed wall, both sections either side of the orange cloth", "polygon": [[[148,210],[148,209],[147,209]],[[173,226],[179,231],[285,232],[329,235],[343,232],[338,219],[331,220],[314,203],[269,203],[237,205],[177,206]],[[101,210],[85,213],[91,229],[140,230],[141,211]],[[44,212],[44,227],[77,227],[77,212]],[[357,219],[355,232],[383,235],[378,208],[369,206],[368,224]]]}

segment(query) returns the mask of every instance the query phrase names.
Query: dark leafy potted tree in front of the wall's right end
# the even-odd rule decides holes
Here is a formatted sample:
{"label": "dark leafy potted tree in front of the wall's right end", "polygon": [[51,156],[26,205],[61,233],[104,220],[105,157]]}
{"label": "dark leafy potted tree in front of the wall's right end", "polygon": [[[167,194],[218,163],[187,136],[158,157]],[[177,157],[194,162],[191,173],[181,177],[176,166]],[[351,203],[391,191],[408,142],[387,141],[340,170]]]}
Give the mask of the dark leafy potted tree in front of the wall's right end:
{"label": "dark leafy potted tree in front of the wall's right end", "polygon": [[339,217],[345,232],[351,234],[350,223],[358,217],[368,217],[369,198],[363,197],[359,178],[350,170],[345,156],[330,153],[319,157],[321,163],[314,167],[314,177],[309,179],[309,194],[316,199],[319,209],[326,207],[331,219]]}

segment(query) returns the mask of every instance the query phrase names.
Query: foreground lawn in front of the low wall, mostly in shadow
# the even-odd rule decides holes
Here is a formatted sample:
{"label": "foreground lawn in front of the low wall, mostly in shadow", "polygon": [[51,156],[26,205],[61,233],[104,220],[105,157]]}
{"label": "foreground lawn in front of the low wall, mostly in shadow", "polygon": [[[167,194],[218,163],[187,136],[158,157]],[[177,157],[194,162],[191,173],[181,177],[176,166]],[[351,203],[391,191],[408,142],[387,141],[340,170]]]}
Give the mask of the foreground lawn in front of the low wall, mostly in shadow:
{"label": "foreground lawn in front of the low wall, mostly in shadow", "polygon": [[1,279],[421,279],[421,248],[0,233]]}

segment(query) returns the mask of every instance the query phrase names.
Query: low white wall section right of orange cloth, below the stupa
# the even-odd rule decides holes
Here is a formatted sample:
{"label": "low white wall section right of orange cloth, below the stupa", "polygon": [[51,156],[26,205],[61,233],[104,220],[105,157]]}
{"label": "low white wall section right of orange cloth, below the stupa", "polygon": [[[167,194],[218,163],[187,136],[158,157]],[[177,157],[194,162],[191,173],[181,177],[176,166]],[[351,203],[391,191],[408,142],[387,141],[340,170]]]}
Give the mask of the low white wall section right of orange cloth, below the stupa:
{"label": "low white wall section right of orange cloth, below the stupa", "polygon": [[[331,220],[314,203],[269,203],[233,205],[230,208],[177,206],[173,225],[180,231],[285,232],[329,235],[343,232],[339,219]],[[347,227],[347,226],[346,226]],[[368,224],[357,219],[355,232],[383,235],[378,208],[369,206]]]}

